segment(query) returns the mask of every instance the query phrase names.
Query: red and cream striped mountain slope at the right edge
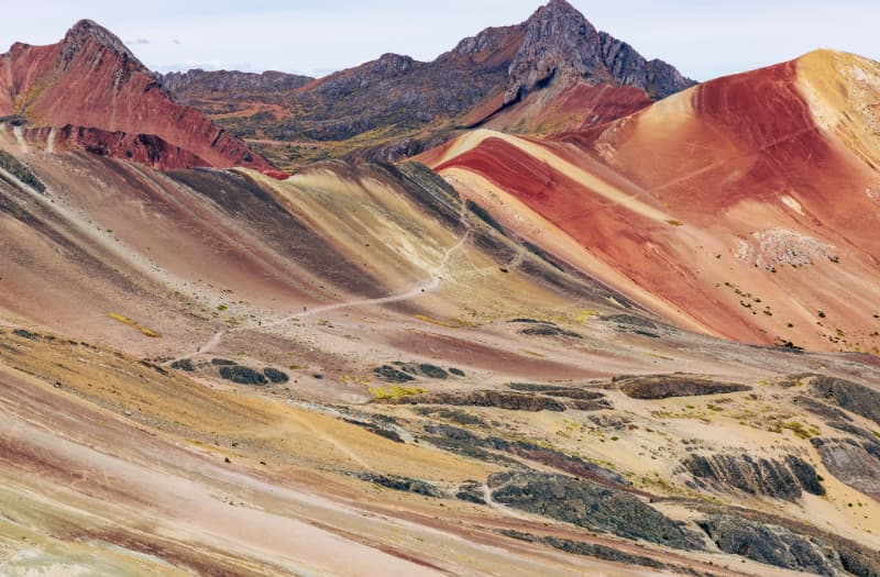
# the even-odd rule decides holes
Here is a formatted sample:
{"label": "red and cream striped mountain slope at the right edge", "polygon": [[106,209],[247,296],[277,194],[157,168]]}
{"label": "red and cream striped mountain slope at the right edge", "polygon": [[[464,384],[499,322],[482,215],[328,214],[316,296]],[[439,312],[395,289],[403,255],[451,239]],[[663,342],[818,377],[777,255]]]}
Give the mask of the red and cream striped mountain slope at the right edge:
{"label": "red and cream striped mountain slope at the right edge", "polygon": [[[680,324],[873,351],[879,82],[876,63],[817,52],[590,131],[472,133],[424,159],[524,236]],[[558,232],[517,224],[538,217]]]}

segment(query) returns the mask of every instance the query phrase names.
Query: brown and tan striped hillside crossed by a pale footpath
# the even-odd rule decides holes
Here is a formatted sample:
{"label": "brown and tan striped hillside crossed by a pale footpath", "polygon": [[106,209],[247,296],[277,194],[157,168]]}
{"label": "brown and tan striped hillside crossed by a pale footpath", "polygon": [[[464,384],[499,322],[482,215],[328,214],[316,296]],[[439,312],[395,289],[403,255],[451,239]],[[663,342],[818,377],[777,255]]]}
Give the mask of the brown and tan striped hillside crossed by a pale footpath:
{"label": "brown and tan striped hillside crossed by a pale footpath", "polygon": [[[2,147],[0,317],[135,354],[178,358],[272,342],[340,376],[355,351],[447,351],[502,373],[556,366],[582,376],[595,371],[556,353],[543,358],[537,345],[502,337],[474,348],[422,333],[627,307],[492,228],[418,165],[327,163],[278,181],[255,170],[161,173],[24,151],[14,140]],[[375,325],[376,346],[351,336],[328,342],[321,357],[300,334],[301,318],[319,323],[337,311]]]}

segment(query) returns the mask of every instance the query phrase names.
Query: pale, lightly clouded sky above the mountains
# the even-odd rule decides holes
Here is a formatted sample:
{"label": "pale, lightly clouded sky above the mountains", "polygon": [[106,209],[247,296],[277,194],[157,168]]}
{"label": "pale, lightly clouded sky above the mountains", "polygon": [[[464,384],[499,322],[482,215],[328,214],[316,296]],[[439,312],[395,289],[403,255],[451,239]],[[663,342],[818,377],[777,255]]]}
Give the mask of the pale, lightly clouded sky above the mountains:
{"label": "pale, lightly clouded sky above the mountains", "polygon": [[[431,60],[546,0],[32,0],[3,7],[0,52],[50,44],[88,18],[148,67],[324,76],[394,52]],[[815,48],[880,59],[877,0],[570,0],[647,58],[707,80]]]}

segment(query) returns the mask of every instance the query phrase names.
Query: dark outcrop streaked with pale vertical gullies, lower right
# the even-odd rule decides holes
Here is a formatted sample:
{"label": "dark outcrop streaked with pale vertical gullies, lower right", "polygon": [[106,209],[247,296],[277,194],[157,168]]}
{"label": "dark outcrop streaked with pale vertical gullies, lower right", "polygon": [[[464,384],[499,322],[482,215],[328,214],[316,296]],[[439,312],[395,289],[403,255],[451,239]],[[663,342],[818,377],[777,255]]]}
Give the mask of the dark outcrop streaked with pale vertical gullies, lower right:
{"label": "dark outcrop streaked with pale vertical gullies, lower right", "polygon": [[749,455],[691,455],[683,465],[703,487],[739,489],[788,501],[801,498],[804,491],[825,495],[816,469],[794,455],[782,461]]}

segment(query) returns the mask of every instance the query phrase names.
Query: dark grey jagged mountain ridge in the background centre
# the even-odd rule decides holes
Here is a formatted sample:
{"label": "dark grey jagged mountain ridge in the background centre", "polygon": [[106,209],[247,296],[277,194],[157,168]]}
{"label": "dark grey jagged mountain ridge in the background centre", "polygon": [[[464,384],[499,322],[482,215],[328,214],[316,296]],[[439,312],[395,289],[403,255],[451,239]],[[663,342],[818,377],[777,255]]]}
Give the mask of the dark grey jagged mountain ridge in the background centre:
{"label": "dark grey jagged mountain ridge in the background centre", "polygon": [[[660,99],[694,85],[672,66],[647,60],[629,44],[596,31],[564,0],[552,0],[520,24],[464,38],[433,62],[385,54],[296,86],[301,81],[301,77],[257,79],[200,70],[165,76],[165,86],[178,99],[209,113],[229,112],[228,104],[252,110],[245,100],[280,107],[283,112],[222,119],[240,137],[258,134],[278,143],[356,140],[331,152],[272,148],[295,163],[332,156],[396,162],[544,89],[609,85],[635,87]],[[239,102],[242,91],[252,98]],[[629,112],[622,109],[620,114]]]}

